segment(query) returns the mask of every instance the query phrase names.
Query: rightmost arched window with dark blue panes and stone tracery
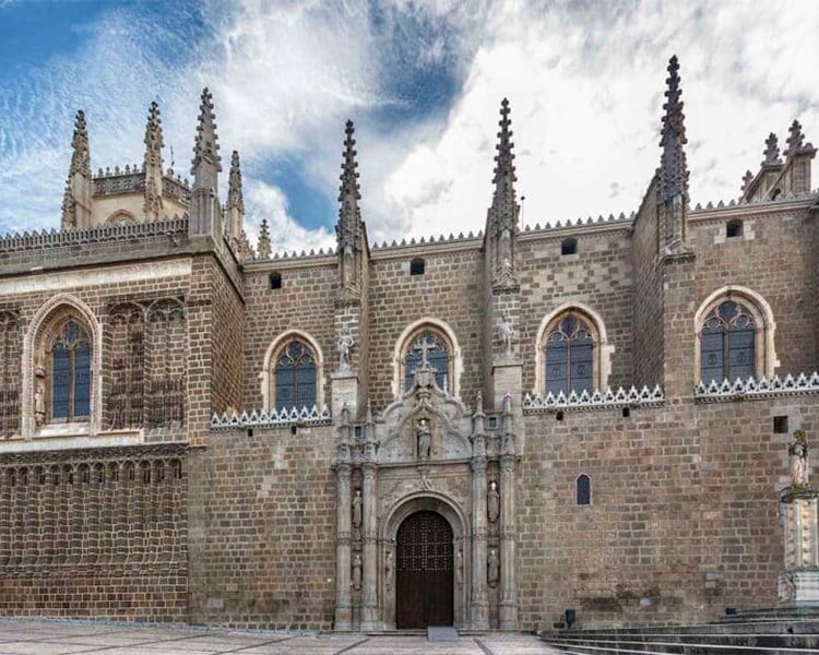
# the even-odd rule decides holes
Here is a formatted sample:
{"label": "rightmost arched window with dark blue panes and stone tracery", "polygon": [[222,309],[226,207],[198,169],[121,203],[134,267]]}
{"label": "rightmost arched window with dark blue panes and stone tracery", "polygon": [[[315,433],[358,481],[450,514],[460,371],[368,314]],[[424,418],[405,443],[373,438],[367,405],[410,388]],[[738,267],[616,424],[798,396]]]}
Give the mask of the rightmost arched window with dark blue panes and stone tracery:
{"label": "rightmost arched window with dark blue panes and stone tracery", "polygon": [[757,332],[752,312],[735,300],[725,300],[705,317],[700,332],[700,379],[743,380],[756,376]]}

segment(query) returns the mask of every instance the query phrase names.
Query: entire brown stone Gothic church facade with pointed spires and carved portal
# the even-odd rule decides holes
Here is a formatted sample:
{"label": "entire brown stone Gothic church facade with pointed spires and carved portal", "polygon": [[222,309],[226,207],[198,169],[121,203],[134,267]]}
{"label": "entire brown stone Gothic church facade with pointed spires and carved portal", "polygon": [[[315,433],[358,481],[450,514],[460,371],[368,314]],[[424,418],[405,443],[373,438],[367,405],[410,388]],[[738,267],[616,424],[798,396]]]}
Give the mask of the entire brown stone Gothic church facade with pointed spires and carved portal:
{"label": "entire brown stone Gothic church facade with pointed spires and carved portal", "polygon": [[[144,163],[96,176],[80,114],[62,229],[0,239],[0,614],[401,628],[419,512],[456,627],[772,605],[784,446],[819,430],[816,151],[795,123],[739,201],[690,206],[680,97],[674,60],[631,216],[520,226],[505,102],[484,231],[392,245],[348,123],[337,250],[301,254],[248,243],[236,153],[219,203],[206,91],[192,184],[157,107]],[[701,381],[724,302],[750,374]],[[59,369],[70,324],[88,360]],[[558,390],[546,344],[579,324],[587,382]]]}

